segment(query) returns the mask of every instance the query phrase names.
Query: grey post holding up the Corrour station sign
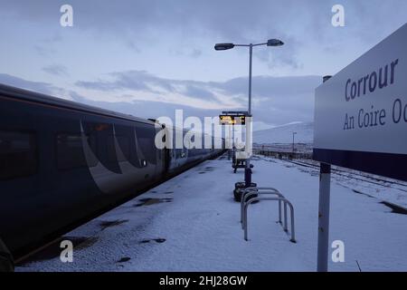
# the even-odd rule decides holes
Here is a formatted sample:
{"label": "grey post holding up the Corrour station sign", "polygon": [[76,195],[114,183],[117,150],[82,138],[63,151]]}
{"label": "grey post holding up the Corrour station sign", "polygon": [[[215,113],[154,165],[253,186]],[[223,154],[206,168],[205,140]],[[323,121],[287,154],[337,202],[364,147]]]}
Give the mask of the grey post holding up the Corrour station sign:
{"label": "grey post holding up the Corrour station sign", "polygon": [[[324,77],[324,82],[329,78]],[[319,169],[317,271],[327,272],[329,251],[329,206],[331,195],[331,165],[321,163]]]}

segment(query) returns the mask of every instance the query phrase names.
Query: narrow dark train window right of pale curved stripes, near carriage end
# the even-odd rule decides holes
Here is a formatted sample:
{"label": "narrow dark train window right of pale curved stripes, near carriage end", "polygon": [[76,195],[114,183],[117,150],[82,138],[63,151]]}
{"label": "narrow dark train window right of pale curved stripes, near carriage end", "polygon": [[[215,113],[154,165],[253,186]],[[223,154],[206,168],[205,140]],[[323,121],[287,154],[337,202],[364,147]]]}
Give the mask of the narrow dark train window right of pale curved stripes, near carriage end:
{"label": "narrow dark train window right of pale curved stripes, near carriage end", "polygon": [[[156,164],[156,130],[154,126],[139,124],[136,127],[138,145],[149,163]],[[140,156],[140,155],[139,155]]]}

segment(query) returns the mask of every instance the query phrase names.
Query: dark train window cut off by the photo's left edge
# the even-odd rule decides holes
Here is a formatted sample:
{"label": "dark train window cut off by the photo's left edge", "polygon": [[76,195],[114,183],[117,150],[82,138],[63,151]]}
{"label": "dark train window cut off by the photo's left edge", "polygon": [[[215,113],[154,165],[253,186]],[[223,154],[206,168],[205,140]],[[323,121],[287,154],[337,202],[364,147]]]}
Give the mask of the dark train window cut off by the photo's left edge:
{"label": "dark train window cut off by the photo's left edge", "polygon": [[0,131],[0,179],[33,175],[37,162],[33,133]]}

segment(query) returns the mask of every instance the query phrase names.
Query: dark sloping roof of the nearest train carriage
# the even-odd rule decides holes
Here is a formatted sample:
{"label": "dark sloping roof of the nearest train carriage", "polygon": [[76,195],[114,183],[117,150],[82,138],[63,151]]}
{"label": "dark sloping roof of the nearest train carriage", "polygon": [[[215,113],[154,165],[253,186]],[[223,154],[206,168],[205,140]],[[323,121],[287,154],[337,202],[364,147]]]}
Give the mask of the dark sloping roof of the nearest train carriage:
{"label": "dark sloping roof of the nearest train carriage", "polygon": [[38,102],[48,105],[57,106],[60,108],[71,109],[75,111],[82,111],[88,113],[96,113],[103,116],[108,116],[112,118],[118,118],[127,121],[137,121],[144,122],[147,124],[154,124],[154,121],[145,120],[142,118],[137,118],[133,115],[123,114],[117,111],[109,111],[101,109],[98,107],[93,107],[90,105],[82,104],[79,102],[72,102],[64,100],[61,98],[52,97],[40,92],[28,91],[13,86],[5,85],[0,83],[0,95],[11,97],[19,100],[29,101],[29,102]]}

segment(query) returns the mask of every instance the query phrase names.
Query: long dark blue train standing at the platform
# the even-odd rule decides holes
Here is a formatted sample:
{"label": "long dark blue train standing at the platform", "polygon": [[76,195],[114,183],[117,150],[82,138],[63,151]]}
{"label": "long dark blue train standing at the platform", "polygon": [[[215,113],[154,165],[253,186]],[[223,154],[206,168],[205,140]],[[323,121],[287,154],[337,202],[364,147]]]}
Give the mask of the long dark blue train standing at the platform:
{"label": "long dark blue train standing at the platform", "polygon": [[0,245],[22,256],[224,151],[160,150],[161,130],[178,129],[0,84]]}

